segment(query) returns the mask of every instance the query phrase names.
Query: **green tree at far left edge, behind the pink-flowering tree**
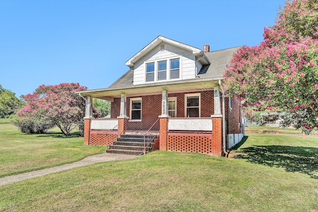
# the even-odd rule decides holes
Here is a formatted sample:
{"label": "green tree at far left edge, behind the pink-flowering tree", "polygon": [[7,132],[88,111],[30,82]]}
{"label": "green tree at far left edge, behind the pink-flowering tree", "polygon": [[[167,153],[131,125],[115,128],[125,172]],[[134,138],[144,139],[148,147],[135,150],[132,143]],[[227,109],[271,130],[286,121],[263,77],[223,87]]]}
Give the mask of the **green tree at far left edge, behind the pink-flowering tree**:
{"label": "green tree at far left edge, behind the pink-flowering tree", "polygon": [[7,118],[15,114],[22,104],[22,100],[18,99],[15,93],[0,85],[0,118]]}

